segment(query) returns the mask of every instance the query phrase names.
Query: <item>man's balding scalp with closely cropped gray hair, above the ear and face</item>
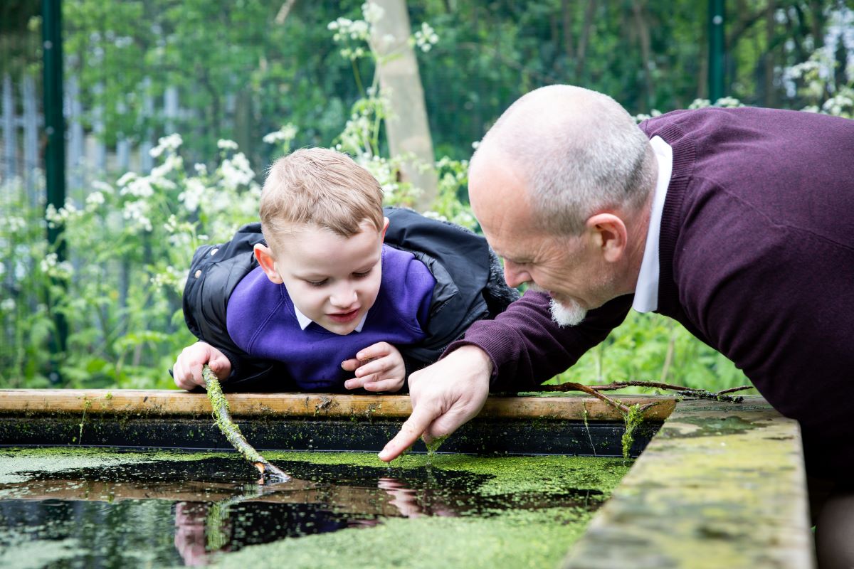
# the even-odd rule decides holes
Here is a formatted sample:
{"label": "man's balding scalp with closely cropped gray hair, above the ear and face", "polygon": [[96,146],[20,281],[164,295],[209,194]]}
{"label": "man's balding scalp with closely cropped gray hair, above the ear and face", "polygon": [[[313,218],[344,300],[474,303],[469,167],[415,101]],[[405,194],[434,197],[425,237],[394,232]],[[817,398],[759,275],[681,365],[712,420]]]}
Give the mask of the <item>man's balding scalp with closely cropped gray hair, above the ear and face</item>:
{"label": "man's balding scalp with closely cropped gray hair, above the ear and face", "polygon": [[518,167],[541,227],[560,235],[580,235],[595,212],[635,211],[655,184],[655,155],[635,119],[610,96],[581,87],[522,96],[478,150],[490,145]]}

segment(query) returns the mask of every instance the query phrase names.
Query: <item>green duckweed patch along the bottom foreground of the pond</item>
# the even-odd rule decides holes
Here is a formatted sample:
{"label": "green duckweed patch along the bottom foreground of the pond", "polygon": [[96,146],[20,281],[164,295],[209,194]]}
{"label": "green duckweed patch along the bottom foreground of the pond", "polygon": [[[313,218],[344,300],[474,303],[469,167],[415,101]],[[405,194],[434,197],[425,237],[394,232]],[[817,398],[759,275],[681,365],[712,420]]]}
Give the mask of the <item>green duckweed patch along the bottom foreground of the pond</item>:
{"label": "green duckweed patch along the bottom foreground of the pond", "polygon": [[573,508],[511,511],[487,519],[390,519],[365,529],[284,539],[227,554],[213,566],[465,567],[501,569],[557,566],[581,536],[591,513]]}

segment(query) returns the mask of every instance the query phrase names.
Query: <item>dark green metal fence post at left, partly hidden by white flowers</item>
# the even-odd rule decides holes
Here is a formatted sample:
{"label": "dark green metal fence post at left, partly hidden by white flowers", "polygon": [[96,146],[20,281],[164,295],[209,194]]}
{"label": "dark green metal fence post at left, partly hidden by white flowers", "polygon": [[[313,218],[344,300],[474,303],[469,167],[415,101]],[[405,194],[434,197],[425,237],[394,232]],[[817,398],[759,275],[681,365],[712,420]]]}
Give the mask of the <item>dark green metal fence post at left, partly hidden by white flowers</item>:
{"label": "dark green metal fence post at left, partly hidden by white flowers", "polygon": [[[65,119],[62,114],[62,5],[61,0],[42,0],[44,41],[44,173],[47,203],[59,209],[65,205]],[[48,227],[48,242],[57,261],[65,259],[62,227]],[[61,286],[65,283],[60,282]],[[49,292],[50,294],[50,292]],[[49,297],[50,299],[50,297]],[[66,350],[68,326],[65,316],[54,313],[56,333],[50,340],[51,383],[59,383],[59,357]]]}

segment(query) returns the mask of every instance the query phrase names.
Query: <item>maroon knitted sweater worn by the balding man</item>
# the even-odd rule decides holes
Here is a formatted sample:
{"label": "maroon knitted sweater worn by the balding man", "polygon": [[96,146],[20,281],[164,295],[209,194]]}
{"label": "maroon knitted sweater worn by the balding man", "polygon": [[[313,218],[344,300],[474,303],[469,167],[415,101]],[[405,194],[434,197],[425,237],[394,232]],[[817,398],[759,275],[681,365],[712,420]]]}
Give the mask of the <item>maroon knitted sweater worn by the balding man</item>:
{"label": "maroon knitted sweater worn by the balding man", "polygon": [[[763,108],[646,120],[673,148],[659,237],[658,313],[721,351],[801,422],[816,474],[854,465],[854,121]],[[465,339],[493,390],[571,366],[629,311],[626,295],[574,328],[526,293]]]}

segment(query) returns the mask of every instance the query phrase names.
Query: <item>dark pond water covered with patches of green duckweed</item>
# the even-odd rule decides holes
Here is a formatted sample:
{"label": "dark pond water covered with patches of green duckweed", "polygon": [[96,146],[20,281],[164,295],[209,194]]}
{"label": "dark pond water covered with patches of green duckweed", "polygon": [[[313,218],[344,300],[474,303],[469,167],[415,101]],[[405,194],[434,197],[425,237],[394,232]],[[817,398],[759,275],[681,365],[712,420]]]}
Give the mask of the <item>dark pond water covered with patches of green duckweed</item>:
{"label": "dark pond water covered with patches of green duckweed", "polygon": [[553,567],[629,462],[0,449],[0,567]]}

